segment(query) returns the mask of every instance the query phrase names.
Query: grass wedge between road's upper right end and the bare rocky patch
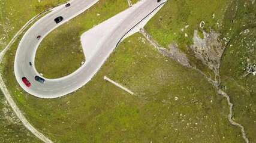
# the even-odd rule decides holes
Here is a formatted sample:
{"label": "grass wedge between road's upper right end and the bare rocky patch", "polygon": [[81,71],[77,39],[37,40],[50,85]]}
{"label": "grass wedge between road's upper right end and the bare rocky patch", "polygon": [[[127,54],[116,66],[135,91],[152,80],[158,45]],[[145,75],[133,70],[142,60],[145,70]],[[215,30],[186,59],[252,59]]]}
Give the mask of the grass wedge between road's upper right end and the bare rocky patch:
{"label": "grass wedge between road's upper right end and the bare rocky patch", "polygon": [[[194,37],[204,39],[203,32],[218,32],[222,28],[222,20],[228,6],[227,1],[167,1],[164,7],[146,25],[145,29],[162,47],[170,49],[179,48],[186,54],[191,66],[203,71],[210,79],[218,76],[218,71],[209,69],[196,56],[190,46],[194,44]],[[195,35],[197,30],[197,35]],[[207,35],[207,34],[206,34]],[[202,43],[202,45],[204,45]],[[199,47],[195,47],[199,48]],[[207,55],[207,52],[201,51]],[[209,53],[211,54],[211,53]],[[210,57],[210,55],[209,55]],[[210,61],[212,59],[207,59]],[[213,61],[214,62],[214,61]]]}

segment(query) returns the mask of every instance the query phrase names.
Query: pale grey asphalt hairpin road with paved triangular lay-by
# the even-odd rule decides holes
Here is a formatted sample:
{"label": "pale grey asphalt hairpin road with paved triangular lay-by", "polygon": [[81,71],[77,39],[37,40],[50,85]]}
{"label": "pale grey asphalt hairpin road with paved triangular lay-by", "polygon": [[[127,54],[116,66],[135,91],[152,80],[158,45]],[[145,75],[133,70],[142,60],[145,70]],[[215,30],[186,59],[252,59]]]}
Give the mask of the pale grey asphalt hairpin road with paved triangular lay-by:
{"label": "pale grey asphalt hairpin road with paved triangular lay-by", "polygon": [[[86,62],[83,66],[68,76],[58,79],[44,78],[46,79],[44,84],[37,82],[34,77],[40,76],[40,74],[35,69],[34,59],[41,40],[60,24],[82,13],[97,1],[76,0],[70,2],[71,6],[68,8],[65,5],[61,5],[52,13],[38,20],[25,33],[16,52],[14,73],[17,82],[26,92],[40,98],[56,98],[81,88],[100,70],[104,61],[113,52],[123,36],[166,2],[166,0],[161,2],[141,0],[131,8],[88,30],[81,36],[86,57]],[[54,19],[58,16],[64,17],[64,20],[56,24]],[[41,35],[40,40],[37,39],[38,35]],[[29,66],[29,62],[32,62],[32,66]],[[22,82],[22,77],[26,77],[29,80],[30,87],[26,87]]]}

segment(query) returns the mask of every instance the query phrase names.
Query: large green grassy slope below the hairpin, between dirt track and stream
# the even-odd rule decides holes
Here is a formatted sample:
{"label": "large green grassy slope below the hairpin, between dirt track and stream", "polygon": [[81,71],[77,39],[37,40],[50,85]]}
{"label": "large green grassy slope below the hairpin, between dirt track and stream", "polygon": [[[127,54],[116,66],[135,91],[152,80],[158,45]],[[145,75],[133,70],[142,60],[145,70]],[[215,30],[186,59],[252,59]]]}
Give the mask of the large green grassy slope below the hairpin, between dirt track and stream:
{"label": "large green grassy slope below the hairpin, between dirt track and stream", "polygon": [[[8,86],[19,87],[15,79]],[[10,89],[32,125],[56,142],[243,141],[213,86],[163,57],[140,34],[122,42],[94,79],[70,95],[44,100]]]}

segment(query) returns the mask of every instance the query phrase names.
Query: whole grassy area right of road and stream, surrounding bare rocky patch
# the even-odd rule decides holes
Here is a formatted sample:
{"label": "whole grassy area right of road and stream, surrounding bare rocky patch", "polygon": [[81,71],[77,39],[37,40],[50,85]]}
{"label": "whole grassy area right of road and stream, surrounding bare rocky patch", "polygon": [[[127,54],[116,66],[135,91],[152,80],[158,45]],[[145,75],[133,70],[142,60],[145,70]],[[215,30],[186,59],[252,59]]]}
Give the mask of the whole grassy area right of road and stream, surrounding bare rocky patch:
{"label": "whole grassy area right of road and stream, surrounding bare rocky patch", "polygon": [[[221,74],[217,82],[222,82],[219,88],[227,92],[234,104],[234,121],[241,123],[249,141],[255,142],[255,2],[228,0],[206,4],[208,2],[168,1],[145,29],[162,47],[179,48],[189,58],[191,65],[195,64],[194,67],[210,79],[213,74],[209,67],[195,58],[191,45],[194,30],[199,32],[201,39],[206,38],[201,32],[210,35],[213,30],[219,34],[218,41],[226,51],[221,58]],[[209,53],[203,54],[208,54],[210,59]]]}

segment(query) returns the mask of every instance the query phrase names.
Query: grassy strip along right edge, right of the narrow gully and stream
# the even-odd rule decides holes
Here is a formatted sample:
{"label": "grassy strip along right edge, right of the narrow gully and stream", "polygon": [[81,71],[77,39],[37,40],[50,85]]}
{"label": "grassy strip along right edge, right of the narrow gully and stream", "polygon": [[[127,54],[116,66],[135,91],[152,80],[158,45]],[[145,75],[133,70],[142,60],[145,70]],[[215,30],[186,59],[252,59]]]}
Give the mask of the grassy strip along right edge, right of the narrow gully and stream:
{"label": "grassy strip along right edge, right of the narrow gully and stream", "polygon": [[256,6],[239,2],[230,42],[222,59],[222,88],[234,103],[234,120],[246,130],[249,141],[256,142]]}

